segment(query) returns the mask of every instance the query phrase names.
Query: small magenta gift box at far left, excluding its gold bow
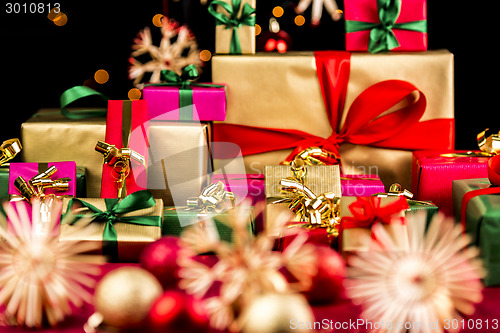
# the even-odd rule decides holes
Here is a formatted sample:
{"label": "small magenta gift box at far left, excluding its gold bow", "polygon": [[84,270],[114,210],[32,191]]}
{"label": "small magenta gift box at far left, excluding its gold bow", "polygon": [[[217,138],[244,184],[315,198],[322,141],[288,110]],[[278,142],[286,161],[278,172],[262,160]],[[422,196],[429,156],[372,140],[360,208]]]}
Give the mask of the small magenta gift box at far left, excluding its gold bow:
{"label": "small magenta gift box at far left, excluding its gold bow", "polygon": [[17,177],[21,176],[28,182],[33,176],[46,171],[49,167],[55,166],[57,171],[50,177],[50,179],[58,178],[71,178],[68,182],[69,188],[66,191],[55,191],[52,189],[45,189],[45,194],[55,194],[58,196],[63,195],[76,195],[76,163],[74,161],[65,162],[49,162],[49,163],[33,163],[33,162],[15,162],[10,163],[9,169],[9,195],[21,194],[14,186],[14,181]]}

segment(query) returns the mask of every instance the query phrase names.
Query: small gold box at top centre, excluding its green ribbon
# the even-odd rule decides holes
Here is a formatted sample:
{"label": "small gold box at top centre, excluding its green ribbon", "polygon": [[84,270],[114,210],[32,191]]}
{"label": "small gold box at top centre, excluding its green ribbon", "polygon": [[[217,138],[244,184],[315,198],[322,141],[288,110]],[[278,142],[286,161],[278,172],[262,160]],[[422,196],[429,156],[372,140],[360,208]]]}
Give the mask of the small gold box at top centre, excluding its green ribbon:
{"label": "small gold box at top centre, excluding its green ribbon", "polygon": [[[231,0],[223,0],[231,4]],[[248,3],[252,8],[256,6],[256,0],[242,0],[238,17],[241,15],[243,6]],[[218,6],[217,12],[228,15],[227,11],[221,6]],[[255,26],[241,25],[236,29],[240,40],[242,54],[255,54]],[[233,29],[226,29],[225,25],[215,26],[215,53],[229,54]],[[214,81],[215,82],[215,81]]]}

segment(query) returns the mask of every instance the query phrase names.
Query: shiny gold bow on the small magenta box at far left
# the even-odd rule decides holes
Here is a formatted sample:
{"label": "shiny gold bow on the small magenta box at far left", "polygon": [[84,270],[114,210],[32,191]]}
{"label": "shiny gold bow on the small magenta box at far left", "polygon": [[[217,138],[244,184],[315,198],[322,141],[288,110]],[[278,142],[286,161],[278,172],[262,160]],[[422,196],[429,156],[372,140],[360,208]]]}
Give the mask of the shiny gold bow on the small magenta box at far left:
{"label": "shiny gold bow on the small magenta box at far left", "polygon": [[71,178],[51,179],[52,175],[57,172],[55,166],[51,166],[46,171],[33,176],[29,181],[26,181],[22,176],[19,176],[14,181],[14,186],[17,188],[21,196],[31,202],[33,198],[45,197],[45,189],[51,188],[56,191],[67,191],[69,189],[69,181]]}

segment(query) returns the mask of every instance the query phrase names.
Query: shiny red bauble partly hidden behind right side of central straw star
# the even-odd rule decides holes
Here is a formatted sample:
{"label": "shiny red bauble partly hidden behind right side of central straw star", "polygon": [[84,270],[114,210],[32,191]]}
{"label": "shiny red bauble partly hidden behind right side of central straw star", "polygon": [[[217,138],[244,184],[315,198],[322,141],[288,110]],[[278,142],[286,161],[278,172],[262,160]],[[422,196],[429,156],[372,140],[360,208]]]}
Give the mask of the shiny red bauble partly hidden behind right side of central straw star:
{"label": "shiny red bauble partly hidden behind right side of central straw star", "polygon": [[316,245],[318,273],[304,292],[310,303],[337,303],[344,297],[345,263],[340,254],[325,245]]}

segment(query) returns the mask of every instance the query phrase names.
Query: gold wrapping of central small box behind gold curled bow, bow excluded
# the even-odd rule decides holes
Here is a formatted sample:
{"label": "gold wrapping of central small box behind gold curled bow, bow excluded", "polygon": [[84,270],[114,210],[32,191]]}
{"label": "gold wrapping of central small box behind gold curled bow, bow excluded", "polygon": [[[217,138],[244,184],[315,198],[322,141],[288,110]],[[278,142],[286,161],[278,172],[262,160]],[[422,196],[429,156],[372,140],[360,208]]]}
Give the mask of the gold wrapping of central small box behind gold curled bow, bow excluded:
{"label": "gold wrapping of central small box behind gold curled bow, bow excluded", "polygon": [[[341,196],[340,168],[338,165],[306,165],[305,185],[316,195],[326,192],[333,192],[336,196]],[[282,196],[280,181],[292,176],[292,171],[288,165],[276,165],[265,167],[265,193],[266,198],[279,198]],[[279,236],[274,221],[283,212],[290,212],[288,203],[269,203],[266,205],[265,230],[270,236]],[[296,221],[297,218],[291,221]]]}

